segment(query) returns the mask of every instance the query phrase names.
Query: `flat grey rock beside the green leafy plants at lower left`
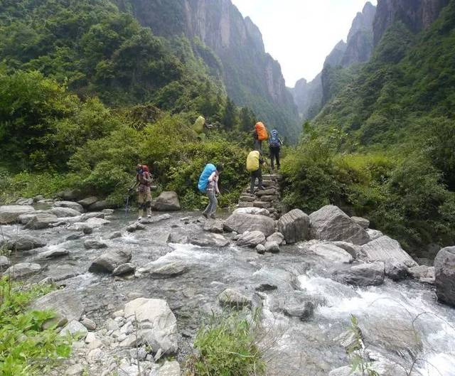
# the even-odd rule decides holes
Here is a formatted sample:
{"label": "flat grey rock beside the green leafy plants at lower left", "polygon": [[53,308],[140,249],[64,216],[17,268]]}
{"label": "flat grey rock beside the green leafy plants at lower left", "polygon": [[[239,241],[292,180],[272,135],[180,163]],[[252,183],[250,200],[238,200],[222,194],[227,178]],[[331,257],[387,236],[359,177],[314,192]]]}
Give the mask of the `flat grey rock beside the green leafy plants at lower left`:
{"label": "flat grey rock beside the green leafy plants at lower left", "polygon": [[30,308],[36,311],[50,310],[57,314],[55,318],[46,321],[47,326],[58,323],[62,319],[65,319],[66,322],[78,321],[84,311],[80,296],[77,292],[68,289],[52,291],[41,296],[33,301]]}

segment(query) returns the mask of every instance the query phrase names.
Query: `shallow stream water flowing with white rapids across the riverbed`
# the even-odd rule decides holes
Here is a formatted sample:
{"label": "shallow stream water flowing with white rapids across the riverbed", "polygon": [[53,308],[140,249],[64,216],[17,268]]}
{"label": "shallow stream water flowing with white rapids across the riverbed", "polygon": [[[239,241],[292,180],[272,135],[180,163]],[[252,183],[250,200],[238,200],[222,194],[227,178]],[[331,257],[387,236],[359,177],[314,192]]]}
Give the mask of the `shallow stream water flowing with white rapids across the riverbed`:
{"label": "shallow stream water flowing with white rapids across the riverbed", "polygon": [[[189,223],[183,222],[189,217]],[[168,244],[168,234],[202,232],[197,213],[176,213],[170,220],[148,225],[146,231],[124,231],[134,217],[116,212],[110,223],[92,235],[66,240],[75,232],[66,227],[23,230],[4,226],[5,235],[32,235],[48,242],[43,249],[11,255],[13,262],[38,262],[46,276],[79,292],[86,314],[102,326],[114,311],[137,296],[166,299],[176,315],[179,330],[179,360],[191,351],[194,335],[204,318],[219,311],[217,296],[230,287],[247,295],[259,294],[262,301],[261,346],[269,375],[322,376],[349,364],[346,351],[335,338],[346,332],[350,317],[358,318],[365,345],[376,353],[412,367],[412,375],[455,376],[455,309],[437,303],[434,287],[403,281],[386,281],[382,286],[358,288],[331,279],[333,264],[299,247],[282,247],[279,254],[259,255],[234,245],[225,248]],[[107,240],[114,231],[123,237]],[[227,235],[229,236],[229,235]],[[103,252],[87,250],[87,237],[106,242],[109,247],[132,250],[132,263],[141,267],[160,257],[179,260],[188,272],[168,279],[112,277],[87,272],[90,263]],[[40,253],[66,249],[68,256],[43,260]],[[256,292],[263,284],[274,284],[273,291]],[[299,296],[317,304],[309,321],[284,316],[282,306]],[[412,366],[414,364],[414,366]]]}

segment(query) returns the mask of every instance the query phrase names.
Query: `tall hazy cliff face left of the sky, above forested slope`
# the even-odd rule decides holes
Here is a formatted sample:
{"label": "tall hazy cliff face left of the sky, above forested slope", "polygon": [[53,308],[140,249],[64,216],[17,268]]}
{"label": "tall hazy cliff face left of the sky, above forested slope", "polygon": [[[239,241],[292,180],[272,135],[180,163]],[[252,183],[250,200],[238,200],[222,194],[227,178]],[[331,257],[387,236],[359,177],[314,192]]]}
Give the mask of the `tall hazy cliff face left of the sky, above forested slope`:
{"label": "tall hazy cliff face left of the sky, above forested slope", "polygon": [[231,0],[117,0],[117,4],[159,36],[184,33],[203,41],[223,64],[232,100],[251,107],[270,127],[296,139],[297,109],[281,67],[265,53],[259,28],[243,18]]}

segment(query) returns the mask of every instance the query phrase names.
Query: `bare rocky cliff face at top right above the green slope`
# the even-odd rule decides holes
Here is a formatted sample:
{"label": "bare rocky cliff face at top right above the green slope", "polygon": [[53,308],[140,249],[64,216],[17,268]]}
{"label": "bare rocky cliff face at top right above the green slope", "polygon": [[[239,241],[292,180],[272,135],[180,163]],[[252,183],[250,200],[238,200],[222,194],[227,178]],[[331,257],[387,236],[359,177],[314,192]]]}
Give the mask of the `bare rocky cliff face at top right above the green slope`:
{"label": "bare rocky cliff face at top right above the green slope", "polygon": [[450,0],[378,0],[374,22],[374,44],[377,45],[387,27],[400,20],[413,32],[428,28],[436,20],[441,9]]}

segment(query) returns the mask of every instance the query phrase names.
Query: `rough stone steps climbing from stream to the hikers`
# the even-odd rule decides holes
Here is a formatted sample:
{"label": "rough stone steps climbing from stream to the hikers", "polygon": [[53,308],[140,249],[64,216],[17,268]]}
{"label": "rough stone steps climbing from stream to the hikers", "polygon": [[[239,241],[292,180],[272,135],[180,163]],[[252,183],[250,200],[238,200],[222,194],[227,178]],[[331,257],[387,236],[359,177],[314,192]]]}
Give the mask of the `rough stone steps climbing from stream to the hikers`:
{"label": "rough stone steps climbing from stream to the hikers", "polygon": [[282,181],[281,175],[262,175],[262,186],[265,189],[255,190],[255,193],[250,193],[250,185],[248,185],[242,195],[240,195],[237,208],[267,209],[269,217],[277,220],[282,214],[280,181]]}

